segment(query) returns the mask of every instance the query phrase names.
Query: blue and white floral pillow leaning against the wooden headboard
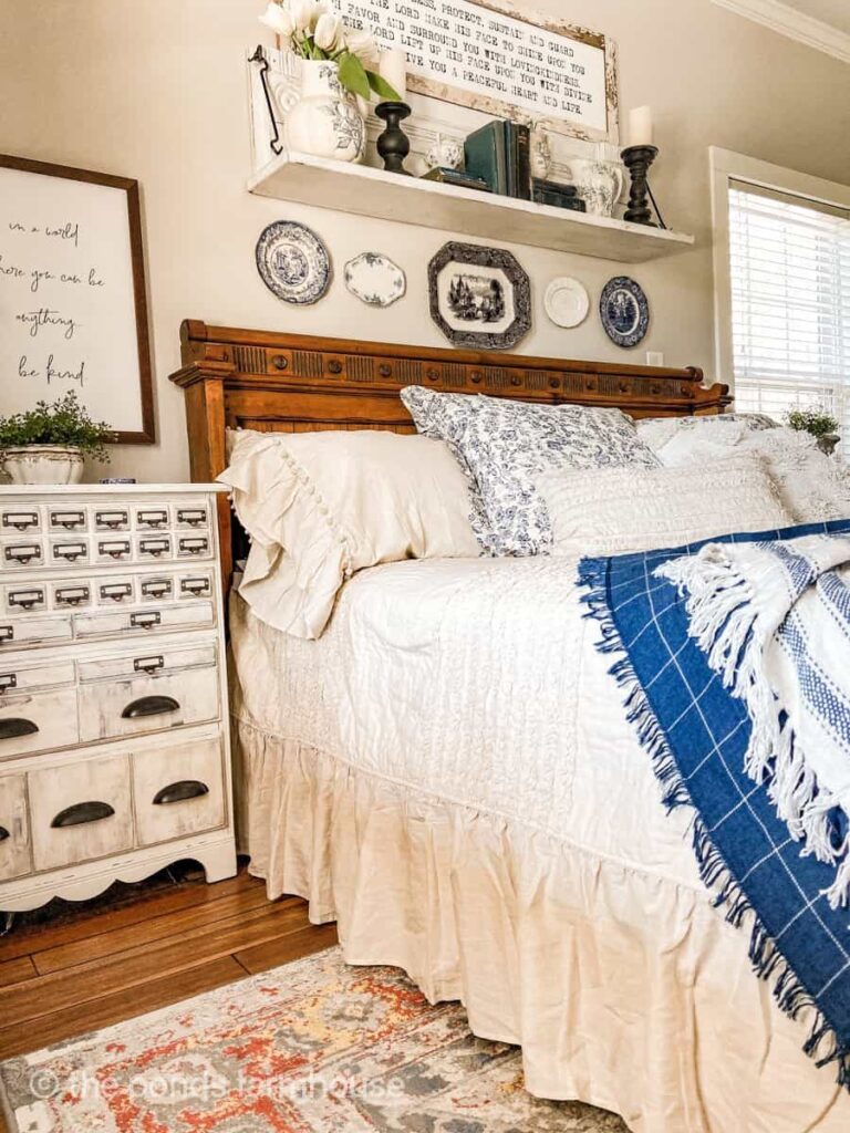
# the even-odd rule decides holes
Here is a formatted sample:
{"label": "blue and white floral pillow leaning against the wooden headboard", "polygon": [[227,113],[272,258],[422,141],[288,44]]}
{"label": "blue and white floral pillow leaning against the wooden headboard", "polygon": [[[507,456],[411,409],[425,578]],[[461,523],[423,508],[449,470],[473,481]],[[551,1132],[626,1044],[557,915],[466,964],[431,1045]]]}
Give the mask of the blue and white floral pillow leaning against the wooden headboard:
{"label": "blue and white floral pillow leaning against the wooden headboard", "polygon": [[541,472],[661,465],[619,409],[539,406],[419,385],[403,390],[401,400],[418,432],[454,453],[469,479],[473,530],[493,555],[550,551],[552,525],[536,488]]}

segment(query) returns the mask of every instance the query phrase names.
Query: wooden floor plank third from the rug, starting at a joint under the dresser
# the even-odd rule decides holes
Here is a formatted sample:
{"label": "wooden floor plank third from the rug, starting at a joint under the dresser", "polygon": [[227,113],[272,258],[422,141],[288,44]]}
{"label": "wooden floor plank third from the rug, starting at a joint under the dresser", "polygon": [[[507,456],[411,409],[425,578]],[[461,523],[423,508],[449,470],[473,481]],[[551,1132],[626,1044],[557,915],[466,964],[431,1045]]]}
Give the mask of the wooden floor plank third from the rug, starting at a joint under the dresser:
{"label": "wooden floor plank third from the rug, starting at a joint under the dresser", "polygon": [[[291,898],[291,901],[296,900]],[[58,972],[65,968],[114,956],[119,952],[126,952],[141,945],[150,946],[156,940],[203,928],[211,920],[226,921],[267,904],[265,888],[262,885],[260,887],[252,886],[229,896],[220,897],[214,905],[210,903],[192,905],[178,912],[127,925],[125,928],[99,932],[97,936],[75,940],[73,944],[63,944],[58,948],[45,948],[36,952],[33,957],[35,968],[40,976],[48,976],[50,972]],[[282,905],[283,902],[279,902],[277,908],[282,908]]]}

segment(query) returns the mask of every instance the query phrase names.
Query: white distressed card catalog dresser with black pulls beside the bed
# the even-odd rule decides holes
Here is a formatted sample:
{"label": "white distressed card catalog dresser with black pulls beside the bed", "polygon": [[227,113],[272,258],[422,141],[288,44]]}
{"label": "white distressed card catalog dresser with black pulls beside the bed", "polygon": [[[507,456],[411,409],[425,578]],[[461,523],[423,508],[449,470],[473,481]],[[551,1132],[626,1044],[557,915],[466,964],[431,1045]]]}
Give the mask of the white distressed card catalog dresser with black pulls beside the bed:
{"label": "white distressed card catalog dresser with black pulls beside the bed", "polygon": [[218,485],[0,488],[0,920],[236,871]]}

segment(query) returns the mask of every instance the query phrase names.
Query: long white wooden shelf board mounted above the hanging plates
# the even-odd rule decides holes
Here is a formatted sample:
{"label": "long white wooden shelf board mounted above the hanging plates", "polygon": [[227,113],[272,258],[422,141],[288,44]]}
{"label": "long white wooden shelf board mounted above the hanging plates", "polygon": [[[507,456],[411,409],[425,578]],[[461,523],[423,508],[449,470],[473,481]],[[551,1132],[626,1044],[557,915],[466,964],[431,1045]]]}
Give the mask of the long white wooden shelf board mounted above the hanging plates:
{"label": "long white wooden shelf board mounted above the hanging plates", "polygon": [[682,232],[588,216],[307,154],[275,157],[250,178],[248,189],[264,197],[358,216],[626,264],[658,259],[694,246],[694,237]]}

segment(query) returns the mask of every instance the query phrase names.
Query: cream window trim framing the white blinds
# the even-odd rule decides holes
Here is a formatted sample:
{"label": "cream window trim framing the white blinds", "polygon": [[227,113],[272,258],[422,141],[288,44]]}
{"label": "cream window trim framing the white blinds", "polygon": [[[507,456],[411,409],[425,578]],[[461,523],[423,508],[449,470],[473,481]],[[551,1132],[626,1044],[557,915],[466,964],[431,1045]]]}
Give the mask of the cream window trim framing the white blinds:
{"label": "cream window trim framing the white blinds", "polygon": [[725,382],[734,397],[732,356],[732,273],[729,242],[729,187],[731,181],[777,193],[807,197],[836,208],[850,208],[850,185],[827,181],[732,150],[709,146],[708,161],[712,186],[712,228],[714,231],[714,369],[716,380]]}

